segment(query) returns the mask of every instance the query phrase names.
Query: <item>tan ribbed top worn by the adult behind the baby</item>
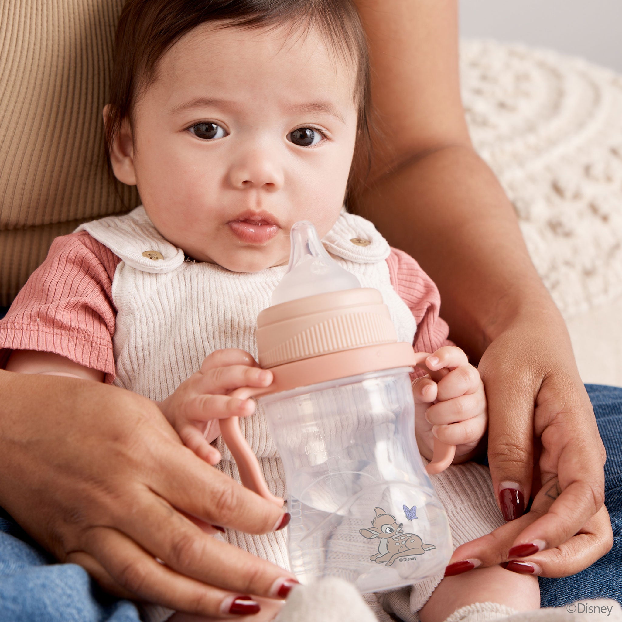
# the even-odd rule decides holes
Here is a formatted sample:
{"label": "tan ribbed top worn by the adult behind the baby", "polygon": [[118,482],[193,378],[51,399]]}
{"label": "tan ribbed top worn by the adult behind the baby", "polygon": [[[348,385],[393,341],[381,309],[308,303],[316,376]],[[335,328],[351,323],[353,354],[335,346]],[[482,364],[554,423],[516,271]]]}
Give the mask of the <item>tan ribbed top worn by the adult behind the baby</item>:
{"label": "tan ribbed top worn by the adult behind the baby", "polygon": [[126,211],[108,179],[101,111],[123,0],[0,1],[0,306],[55,236]]}

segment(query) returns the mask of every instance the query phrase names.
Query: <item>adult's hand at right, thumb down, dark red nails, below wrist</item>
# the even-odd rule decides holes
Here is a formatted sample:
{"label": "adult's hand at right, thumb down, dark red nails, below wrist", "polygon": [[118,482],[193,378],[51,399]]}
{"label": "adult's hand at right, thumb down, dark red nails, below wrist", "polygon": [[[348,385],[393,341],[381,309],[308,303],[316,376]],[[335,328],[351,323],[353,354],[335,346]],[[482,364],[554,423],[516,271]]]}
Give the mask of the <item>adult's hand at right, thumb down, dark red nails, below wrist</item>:
{"label": "adult's hand at right, thumb down, dark red nails, below wrist", "polygon": [[[554,318],[546,319],[516,320],[481,358],[493,488],[511,522],[456,549],[453,570],[512,559],[511,570],[563,577],[613,544],[603,506],[605,448],[563,324],[555,330]],[[528,555],[531,567],[517,565]],[[471,565],[460,564],[465,560]]]}

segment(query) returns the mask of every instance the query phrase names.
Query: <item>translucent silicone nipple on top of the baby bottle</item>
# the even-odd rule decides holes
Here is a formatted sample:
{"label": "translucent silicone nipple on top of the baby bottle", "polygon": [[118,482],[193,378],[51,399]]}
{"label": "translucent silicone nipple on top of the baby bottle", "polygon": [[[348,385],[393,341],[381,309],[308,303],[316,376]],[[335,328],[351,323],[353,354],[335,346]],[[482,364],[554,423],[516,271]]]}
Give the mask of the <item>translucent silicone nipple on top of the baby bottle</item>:
{"label": "translucent silicone nipple on top of the baby bottle", "polygon": [[327,253],[308,220],[292,226],[289,266],[272,292],[272,305],[315,294],[361,287],[359,280]]}

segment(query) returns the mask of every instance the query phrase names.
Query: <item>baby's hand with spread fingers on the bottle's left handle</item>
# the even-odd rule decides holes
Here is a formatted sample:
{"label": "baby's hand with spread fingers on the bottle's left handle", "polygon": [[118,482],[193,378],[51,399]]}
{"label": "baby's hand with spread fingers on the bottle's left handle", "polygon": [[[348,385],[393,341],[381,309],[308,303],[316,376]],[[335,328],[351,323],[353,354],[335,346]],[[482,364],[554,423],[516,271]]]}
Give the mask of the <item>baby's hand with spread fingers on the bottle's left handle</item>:
{"label": "baby's hand with spread fingers on the bottle's left handle", "polygon": [[240,387],[267,387],[271,382],[272,372],[261,369],[248,352],[216,350],[158,406],[183,444],[214,465],[220,452],[210,443],[220,434],[218,419],[248,417],[255,411],[252,399],[229,393]]}

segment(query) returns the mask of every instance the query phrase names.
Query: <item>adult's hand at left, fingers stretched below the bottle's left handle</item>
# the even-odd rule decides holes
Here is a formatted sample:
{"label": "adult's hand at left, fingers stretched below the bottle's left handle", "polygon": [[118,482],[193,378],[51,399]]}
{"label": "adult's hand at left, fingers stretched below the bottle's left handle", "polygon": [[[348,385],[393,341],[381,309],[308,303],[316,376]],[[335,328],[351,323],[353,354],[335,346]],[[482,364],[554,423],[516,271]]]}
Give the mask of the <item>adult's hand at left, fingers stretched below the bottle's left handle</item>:
{"label": "adult's hand at left, fingers stretched below the bottle's left handle", "polygon": [[0,504],[62,562],[118,595],[215,617],[243,613],[238,596],[279,598],[295,582],[211,537],[211,525],[266,533],[289,514],[184,447],[154,402],[7,371],[0,392],[0,468],[11,473]]}

